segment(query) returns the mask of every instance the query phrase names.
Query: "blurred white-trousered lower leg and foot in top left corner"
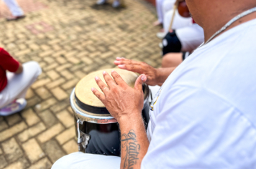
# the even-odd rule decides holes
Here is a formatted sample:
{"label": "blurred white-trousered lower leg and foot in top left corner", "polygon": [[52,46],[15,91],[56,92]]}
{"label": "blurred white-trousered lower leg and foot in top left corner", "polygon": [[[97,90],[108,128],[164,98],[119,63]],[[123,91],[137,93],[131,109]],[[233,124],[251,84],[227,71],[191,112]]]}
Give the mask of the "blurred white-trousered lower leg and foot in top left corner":
{"label": "blurred white-trousered lower leg and foot in top left corner", "polygon": [[12,13],[12,16],[6,18],[7,21],[15,21],[25,17],[24,11],[19,7],[19,4],[15,0],[3,0],[6,6]]}

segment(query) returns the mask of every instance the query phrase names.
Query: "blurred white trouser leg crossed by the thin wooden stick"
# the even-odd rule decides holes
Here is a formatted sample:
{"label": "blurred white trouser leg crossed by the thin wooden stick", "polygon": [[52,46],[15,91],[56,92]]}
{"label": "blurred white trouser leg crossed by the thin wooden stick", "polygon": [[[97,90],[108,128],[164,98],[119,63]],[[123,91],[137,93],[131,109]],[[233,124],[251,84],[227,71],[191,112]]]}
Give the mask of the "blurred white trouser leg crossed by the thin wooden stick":
{"label": "blurred white trouser leg crossed by the thin wooden stick", "polygon": [[[169,26],[170,26],[170,21],[172,19],[173,16],[173,9],[168,11],[165,14],[165,18],[164,18],[164,22],[163,22],[163,28],[165,30],[165,33],[167,34],[169,32]],[[178,10],[175,11],[175,16],[174,16],[174,20],[173,20],[173,26],[172,29],[179,29],[179,28],[183,28],[186,26],[190,26],[192,24],[192,18],[188,17],[185,18],[183,16],[180,16],[180,14],[178,14]]]}

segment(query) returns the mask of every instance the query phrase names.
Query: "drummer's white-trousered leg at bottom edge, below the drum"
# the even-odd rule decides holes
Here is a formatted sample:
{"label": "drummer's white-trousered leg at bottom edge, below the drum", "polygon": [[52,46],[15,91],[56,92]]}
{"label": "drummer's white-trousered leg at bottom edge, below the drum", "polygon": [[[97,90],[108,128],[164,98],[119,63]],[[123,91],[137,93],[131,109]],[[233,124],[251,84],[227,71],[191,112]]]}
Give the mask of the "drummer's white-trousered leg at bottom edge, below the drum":
{"label": "drummer's white-trousered leg at bottom edge, below the drum", "polygon": [[120,157],[77,152],[57,160],[52,169],[119,169],[120,163]]}

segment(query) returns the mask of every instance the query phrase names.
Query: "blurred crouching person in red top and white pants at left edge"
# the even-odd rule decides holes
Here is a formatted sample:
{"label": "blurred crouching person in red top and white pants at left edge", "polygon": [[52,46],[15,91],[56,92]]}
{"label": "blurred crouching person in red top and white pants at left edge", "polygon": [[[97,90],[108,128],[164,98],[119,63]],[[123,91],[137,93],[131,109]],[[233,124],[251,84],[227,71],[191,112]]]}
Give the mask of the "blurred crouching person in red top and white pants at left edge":
{"label": "blurred crouching person in red top and white pants at left edge", "polygon": [[37,62],[20,64],[0,48],[0,115],[12,115],[26,107],[27,90],[41,72]]}

